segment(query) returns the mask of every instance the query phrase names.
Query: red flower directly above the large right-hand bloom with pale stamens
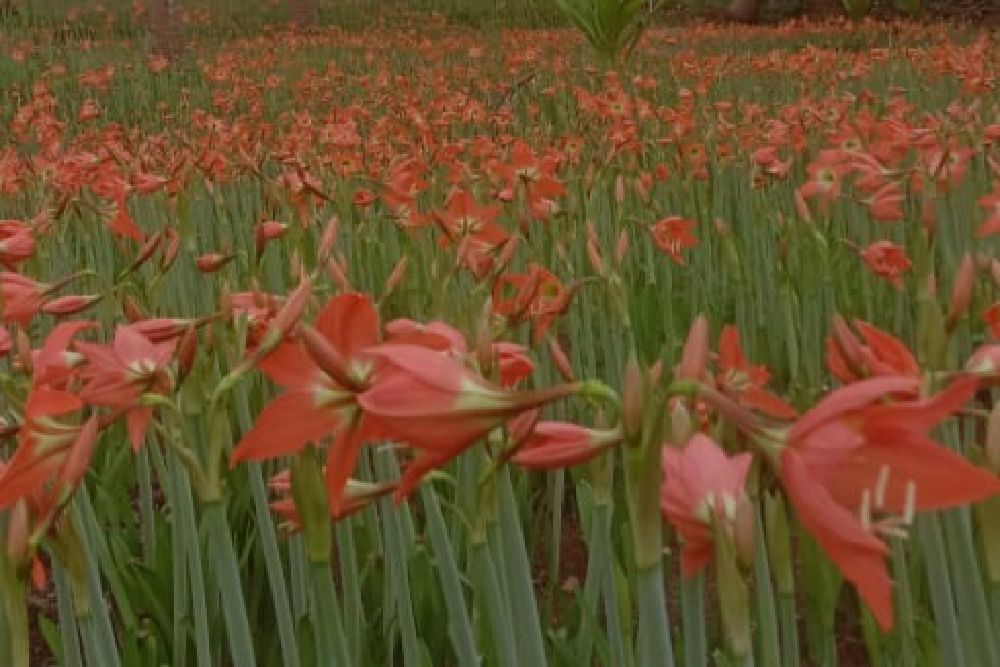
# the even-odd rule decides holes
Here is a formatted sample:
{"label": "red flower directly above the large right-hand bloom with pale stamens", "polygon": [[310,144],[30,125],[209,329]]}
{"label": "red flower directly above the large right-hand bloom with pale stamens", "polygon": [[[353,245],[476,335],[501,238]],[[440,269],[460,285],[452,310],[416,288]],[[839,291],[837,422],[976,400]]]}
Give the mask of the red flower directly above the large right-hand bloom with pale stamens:
{"label": "red flower directly above the large right-hand bloom with pale stamens", "polygon": [[837,315],[833,335],[826,339],[826,366],[840,382],[887,375],[919,377],[920,366],[901,340],[861,320],[854,320],[854,328],[864,342]]}

